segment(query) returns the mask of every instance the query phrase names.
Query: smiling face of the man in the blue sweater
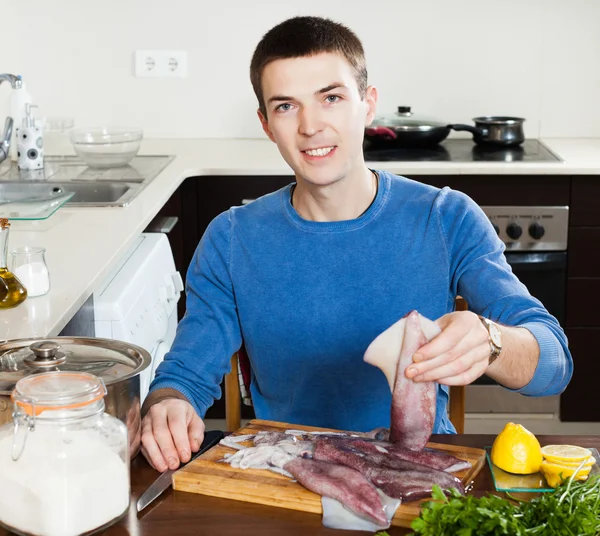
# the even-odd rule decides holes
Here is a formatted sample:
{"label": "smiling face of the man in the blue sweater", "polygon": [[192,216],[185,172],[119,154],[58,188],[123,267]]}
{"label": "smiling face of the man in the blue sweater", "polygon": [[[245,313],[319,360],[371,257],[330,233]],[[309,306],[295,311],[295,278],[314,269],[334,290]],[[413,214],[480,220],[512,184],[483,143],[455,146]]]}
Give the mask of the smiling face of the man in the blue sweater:
{"label": "smiling face of the man in the blue sweater", "polygon": [[275,60],[262,74],[267,110],[258,115],[297,177],[315,185],[337,182],[363,164],[365,126],[377,92],[364,99],[352,67],[339,54]]}

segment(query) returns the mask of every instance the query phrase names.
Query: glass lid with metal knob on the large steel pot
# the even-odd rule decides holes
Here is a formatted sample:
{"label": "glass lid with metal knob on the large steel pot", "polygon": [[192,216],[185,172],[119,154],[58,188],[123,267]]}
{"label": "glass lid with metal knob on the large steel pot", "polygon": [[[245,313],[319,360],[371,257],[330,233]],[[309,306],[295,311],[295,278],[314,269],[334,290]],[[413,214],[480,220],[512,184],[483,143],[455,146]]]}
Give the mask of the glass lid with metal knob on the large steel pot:
{"label": "glass lid with metal knob on the large steel pot", "polygon": [[0,395],[10,395],[21,378],[56,370],[87,372],[108,386],[136,376],[150,361],[150,354],[143,348],[110,339],[55,337],[6,341],[0,344]]}

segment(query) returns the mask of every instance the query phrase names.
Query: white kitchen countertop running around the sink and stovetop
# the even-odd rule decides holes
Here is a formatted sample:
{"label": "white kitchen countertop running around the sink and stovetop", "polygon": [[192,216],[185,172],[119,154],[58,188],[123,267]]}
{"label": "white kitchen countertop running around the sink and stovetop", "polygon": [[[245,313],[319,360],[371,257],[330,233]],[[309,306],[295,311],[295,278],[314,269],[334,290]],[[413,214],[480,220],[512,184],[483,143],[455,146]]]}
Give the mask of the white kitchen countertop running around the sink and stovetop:
{"label": "white kitchen countertop running around the sink and stovetop", "polygon": [[[46,154],[73,154],[46,139]],[[407,175],[600,175],[600,139],[541,140],[561,163],[370,162]],[[64,149],[64,150],[63,150]],[[140,154],[175,159],[128,207],[62,207],[47,220],[12,222],[9,249],[43,246],[51,290],[0,312],[0,340],[56,336],[98,288],[172,193],[188,177],[291,175],[268,140],[144,140]]]}

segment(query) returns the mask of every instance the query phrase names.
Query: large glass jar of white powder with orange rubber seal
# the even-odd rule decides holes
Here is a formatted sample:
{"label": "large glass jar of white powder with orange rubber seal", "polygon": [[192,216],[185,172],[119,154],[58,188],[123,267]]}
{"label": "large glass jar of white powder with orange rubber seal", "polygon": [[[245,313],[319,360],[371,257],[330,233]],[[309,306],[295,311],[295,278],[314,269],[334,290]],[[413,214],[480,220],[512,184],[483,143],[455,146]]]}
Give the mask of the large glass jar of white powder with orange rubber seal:
{"label": "large glass jar of white powder with orange rubber seal", "polygon": [[105,413],[106,387],[88,373],[19,380],[13,422],[0,427],[0,525],[25,535],[105,528],[129,509],[127,428]]}

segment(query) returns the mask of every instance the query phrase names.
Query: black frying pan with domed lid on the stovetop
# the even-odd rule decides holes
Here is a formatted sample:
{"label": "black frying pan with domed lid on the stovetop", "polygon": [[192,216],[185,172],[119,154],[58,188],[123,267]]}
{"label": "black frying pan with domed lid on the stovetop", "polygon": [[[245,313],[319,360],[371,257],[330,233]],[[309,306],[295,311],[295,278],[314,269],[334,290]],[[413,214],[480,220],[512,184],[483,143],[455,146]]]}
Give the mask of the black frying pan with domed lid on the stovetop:
{"label": "black frying pan with domed lid on the stovetop", "polygon": [[366,149],[427,147],[450,134],[448,122],[415,115],[410,106],[398,106],[392,116],[379,116],[365,129]]}

